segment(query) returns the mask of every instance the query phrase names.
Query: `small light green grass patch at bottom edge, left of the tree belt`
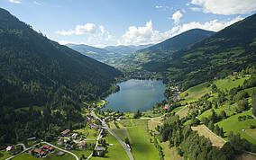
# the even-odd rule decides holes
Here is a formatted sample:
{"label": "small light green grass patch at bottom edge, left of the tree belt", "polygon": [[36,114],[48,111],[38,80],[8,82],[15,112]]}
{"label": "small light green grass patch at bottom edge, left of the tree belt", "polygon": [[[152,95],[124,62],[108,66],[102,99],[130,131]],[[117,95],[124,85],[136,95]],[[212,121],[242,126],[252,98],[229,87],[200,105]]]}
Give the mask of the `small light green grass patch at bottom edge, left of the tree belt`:
{"label": "small light green grass patch at bottom edge, left of the tree belt", "polygon": [[161,145],[163,147],[164,159],[165,160],[182,160],[183,158],[178,155],[178,151],[176,147],[169,148],[169,142],[162,142]]}

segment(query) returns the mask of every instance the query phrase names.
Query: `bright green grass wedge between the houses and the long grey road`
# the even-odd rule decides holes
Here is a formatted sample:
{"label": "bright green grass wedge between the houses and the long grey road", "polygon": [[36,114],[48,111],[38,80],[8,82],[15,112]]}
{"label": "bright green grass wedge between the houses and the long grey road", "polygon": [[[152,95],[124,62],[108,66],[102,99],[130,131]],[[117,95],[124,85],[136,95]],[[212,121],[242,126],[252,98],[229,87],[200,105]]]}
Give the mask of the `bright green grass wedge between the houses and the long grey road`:
{"label": "bright green grass wedge between the houses and the long grey road", "polygon": [[111,134],[108,133],[108,137],[106,138],[106,142],[108,144],[113,144],[113,146],[108,146],[106,156],[104,158],[103,157],[91,157],[90,159],[92,159],[92,160],[106,160],[106,159],[128,160],[129,159],[129,157],[127,156],[123,147],[116,140],[116,138],[114,138],[114,136],[112,136]]}

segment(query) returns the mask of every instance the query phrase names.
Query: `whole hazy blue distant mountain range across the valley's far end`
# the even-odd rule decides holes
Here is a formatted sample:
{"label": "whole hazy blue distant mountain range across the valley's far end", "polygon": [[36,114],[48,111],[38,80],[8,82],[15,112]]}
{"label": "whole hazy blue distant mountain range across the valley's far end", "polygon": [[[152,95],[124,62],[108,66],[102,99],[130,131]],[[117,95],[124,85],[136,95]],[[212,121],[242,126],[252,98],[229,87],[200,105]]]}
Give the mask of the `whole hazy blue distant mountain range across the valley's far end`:
{"label": "whole hazy blue distant mountain range across the valley's far end", "polygon": [[147,48],[151,45],[141,45],[141,46],[108,46],[104,49],[88,46],[85,44],[67,44],[70,49],[77,50],[83,55],[90,58],[99,60],[105,64],[114,66],[115,61],[123,56],[132,54],[134,51],[139,49]]}

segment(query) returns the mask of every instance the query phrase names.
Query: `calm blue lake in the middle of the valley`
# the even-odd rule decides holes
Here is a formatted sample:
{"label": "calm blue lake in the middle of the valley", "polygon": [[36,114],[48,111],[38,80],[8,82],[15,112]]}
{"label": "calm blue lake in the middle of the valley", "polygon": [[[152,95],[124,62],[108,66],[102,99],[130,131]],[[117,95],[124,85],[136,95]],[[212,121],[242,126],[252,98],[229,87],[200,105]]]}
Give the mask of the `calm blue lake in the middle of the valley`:
{"label": "calm blue lake in the middle of the valley", "polygon": [[160,80],[131,79],[117,85],[120,86],[120,91],[106,97],[108,103],[104,111],[148,111],[156,102],[165,99],[165,84]]}

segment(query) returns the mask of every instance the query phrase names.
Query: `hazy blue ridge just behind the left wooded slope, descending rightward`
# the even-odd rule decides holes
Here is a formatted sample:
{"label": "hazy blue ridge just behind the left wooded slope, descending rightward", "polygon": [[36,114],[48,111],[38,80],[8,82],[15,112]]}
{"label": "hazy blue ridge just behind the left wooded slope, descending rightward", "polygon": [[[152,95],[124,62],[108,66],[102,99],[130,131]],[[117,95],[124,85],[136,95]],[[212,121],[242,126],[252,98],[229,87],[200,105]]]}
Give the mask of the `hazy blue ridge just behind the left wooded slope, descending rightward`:
{"label": "hazy blue ridge just behind the left wooded slope, descending rightward", "polygon": [[94,58],[106,64],[109,64],[111,60],[116,57],[116,53],[112,51],[88,46],[85,44],[67,44],[66,46],[68,46],[70,49],[74,49],[80,52],[83,55],[86,55],[87,57]]}

